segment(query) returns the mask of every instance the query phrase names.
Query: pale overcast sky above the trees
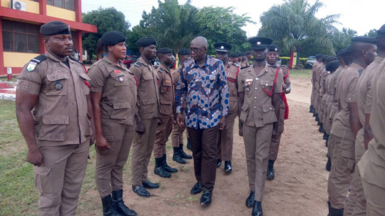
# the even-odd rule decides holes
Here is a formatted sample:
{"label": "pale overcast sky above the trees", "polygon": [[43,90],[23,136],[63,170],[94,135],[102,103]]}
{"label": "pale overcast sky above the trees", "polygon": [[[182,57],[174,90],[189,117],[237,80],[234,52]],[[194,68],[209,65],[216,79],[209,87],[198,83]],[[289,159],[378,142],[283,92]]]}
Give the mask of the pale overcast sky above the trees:
{"label": "pale overcast sky above the trees", "polygon": [[[248,24],[243,29],[248,37],[255,36],[260,28],[259,17],[262,13],[268,10],[274,4],[280,4],[283,0],[192,0],[191,4],[197,8],[204,6],[220,6],[220,7],[235,7],[235,13],[241,15],[247,13],[251,20],[257,24]],[[382,24],[385,24],[385,13],[383,8],[383,0],[321,0],[324,6],[318,10],[316,17],[325,17],[326,15],[339,14],[337,24],[338,29],[343,27],[354,29],[358,35],[363,35],[370,29],[379,29]],[[186,0],[179,0],[180,4],[186,3]],[[237,3],[237,4],[235,4]],[[309,3],[314,3],[314,0],[309,0]],[[82,10],[84,13],[90,10],[96,10],[99,7],[109,8],[114,7],[125,14],[125,18],[134,27],[139,24],[141,14],[144,10],[151,11],[151,8],[158,7],[158,0],[83,0]]]}

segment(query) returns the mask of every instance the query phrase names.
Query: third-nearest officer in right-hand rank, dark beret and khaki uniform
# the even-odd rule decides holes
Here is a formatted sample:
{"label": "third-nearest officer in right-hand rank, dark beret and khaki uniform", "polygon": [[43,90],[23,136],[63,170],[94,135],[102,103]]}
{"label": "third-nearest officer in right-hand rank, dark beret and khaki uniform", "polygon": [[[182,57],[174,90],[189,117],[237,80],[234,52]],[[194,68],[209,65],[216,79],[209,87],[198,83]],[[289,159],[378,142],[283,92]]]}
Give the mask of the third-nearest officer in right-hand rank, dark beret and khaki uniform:
{"label": "third-nearest officer in right-hand rank, dark beret and khaki uniform", "polygon": [[[362,125],[358,118],[357,82],[363,70],[374,60],[376,46],[373,38],[351,39],[353,63],[341,76],[337,101],[340,109],[332,124],[333,152],[332,168],[328,179],[328,201],[330,215],[343,215],[346,194],[354,171],[354,143]],[[365,50],[365,52],[364,52]],[[353,189],[353,188],[352,188]],[[351,191],[350,193],[354,193]]]}

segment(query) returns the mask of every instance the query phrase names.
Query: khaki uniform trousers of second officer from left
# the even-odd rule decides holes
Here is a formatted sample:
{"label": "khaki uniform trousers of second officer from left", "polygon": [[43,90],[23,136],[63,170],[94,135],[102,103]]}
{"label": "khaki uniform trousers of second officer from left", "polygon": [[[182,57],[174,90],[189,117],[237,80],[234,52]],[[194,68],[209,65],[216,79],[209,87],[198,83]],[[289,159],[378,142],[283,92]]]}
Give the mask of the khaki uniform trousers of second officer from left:
{"label": "khaki uniform trousers of second officer from left", "polygon": [[123,189],[123,166],[130,154],[135,126],[103,118],[102,131],[110,149],[100,151],[95,146],[95,181],[99,195],[106,197],[113,191]]}

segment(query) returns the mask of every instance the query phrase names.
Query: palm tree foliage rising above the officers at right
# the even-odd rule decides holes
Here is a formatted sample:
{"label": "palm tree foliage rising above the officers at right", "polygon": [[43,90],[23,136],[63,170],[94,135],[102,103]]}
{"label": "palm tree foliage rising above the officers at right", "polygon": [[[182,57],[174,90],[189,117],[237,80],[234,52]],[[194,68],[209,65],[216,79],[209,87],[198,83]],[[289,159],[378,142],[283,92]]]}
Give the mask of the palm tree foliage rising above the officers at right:
{"label": "palm tree foliage rising above the officers at right", "polygon": [[339,15],[318,19],[315,15],[322,6],[319,0],[313,5],[307,0],[287,0],[272,6],[260,16],[258,36],[272,38],[286,55],[298,52],[300,57],[306,57],[309,49],[332,54],[332,35],[338,31],[333,24]]}

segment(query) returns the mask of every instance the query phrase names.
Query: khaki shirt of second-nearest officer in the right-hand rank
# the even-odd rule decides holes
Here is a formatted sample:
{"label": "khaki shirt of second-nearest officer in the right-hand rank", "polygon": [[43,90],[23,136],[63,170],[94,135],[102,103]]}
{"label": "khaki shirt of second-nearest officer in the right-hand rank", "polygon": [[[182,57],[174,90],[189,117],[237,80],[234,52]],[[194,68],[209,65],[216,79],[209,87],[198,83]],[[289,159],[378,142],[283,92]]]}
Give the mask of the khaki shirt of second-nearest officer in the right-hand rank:
{"label": "khaki shirt of second-nearest officer in the right-hand rank", "polygon": [[376,73],[379,64],[384,58],[376,57],[372,64],[367,66],[365,71],[361,73],[357,84],[357,103],[358,116],[362,125],[365,124],[365,114],[370,114],[372,111],[372,78]]}

